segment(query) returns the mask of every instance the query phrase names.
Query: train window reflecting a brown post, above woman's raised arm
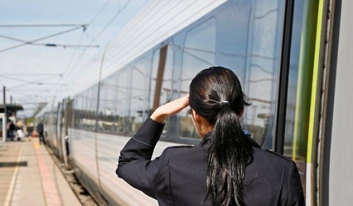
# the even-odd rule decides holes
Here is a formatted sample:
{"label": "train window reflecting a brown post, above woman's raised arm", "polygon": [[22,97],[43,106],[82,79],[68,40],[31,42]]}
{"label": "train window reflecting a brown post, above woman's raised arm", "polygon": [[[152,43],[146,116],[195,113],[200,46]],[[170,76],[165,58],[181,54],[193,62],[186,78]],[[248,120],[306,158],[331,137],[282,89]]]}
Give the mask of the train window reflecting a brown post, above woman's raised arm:
{"label": "train window reflecting a brown post, above woman's raised arm", "polygon": [[[152,60],[150,114],[160,105],[169,101],[172,85],[174,52],[166,45],[155,51]],[[165,120],[162,134],[168,129],[168,120]]]}

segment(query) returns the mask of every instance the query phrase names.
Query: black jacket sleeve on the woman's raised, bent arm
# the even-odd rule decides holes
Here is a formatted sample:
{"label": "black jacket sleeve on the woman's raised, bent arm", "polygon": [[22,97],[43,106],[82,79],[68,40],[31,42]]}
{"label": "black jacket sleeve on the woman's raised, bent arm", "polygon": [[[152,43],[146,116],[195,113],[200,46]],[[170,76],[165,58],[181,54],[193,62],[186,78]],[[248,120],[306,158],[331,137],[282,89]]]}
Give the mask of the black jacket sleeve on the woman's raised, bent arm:
{"label": "black jacket sleeve on the woman's raised, bent arm", "polygon": [[156,198],[154,181],[166,150],[154,160],[151,157],[163,127],[164,124],[148,118],[121,151],[115,171],[131,186],[153,198]]}

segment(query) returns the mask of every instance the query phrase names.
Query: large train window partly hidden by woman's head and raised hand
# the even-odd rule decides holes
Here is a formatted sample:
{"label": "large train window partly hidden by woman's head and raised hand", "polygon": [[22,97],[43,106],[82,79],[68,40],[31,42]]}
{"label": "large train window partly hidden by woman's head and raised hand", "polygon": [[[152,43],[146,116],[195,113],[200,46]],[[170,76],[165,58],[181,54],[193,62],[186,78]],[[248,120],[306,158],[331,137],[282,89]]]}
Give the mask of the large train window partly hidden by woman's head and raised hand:
{"label": "large train window partly hidden by woman's head and raised hand", "polygon": [[[214,65],[216,49],[216,20],[211,18],[190,30],[183,49],[183,68],[180,95],[189,93],[189,85],[195,75]],[[199,138],[187,110],[178,115],[181,137]]]}

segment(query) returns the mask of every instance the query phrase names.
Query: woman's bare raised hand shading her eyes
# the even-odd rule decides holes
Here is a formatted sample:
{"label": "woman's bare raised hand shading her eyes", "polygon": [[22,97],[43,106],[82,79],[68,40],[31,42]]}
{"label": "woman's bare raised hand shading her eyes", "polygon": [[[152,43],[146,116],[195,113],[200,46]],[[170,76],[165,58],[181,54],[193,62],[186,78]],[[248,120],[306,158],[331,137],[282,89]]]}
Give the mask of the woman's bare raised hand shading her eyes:
{"label": "woman's bare raised hand shading her eyes", "polygon": [[159,106],[150,116],[156,122],[162,123],[165,118],[177,114],[189,106],[189,94]]}

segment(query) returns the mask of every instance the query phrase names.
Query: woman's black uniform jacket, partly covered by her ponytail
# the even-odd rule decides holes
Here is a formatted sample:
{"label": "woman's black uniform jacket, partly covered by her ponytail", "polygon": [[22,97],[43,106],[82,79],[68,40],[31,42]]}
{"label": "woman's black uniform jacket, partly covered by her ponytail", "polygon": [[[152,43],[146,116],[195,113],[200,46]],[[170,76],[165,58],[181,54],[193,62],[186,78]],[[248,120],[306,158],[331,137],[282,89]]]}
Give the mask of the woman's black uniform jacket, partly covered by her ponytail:
{"label": "woman's black uniform jacket, partly covered by her ponytail", "polygon": [[[117,176],[159,205],[213,205],[210,196],[205,199],[207,135],[199,146],[168,147],[151,160],[163,126],[150,118],[143,123],[121,151]],[[304,205],[295,162],[253,145],[243,184],[246,205]]]}

